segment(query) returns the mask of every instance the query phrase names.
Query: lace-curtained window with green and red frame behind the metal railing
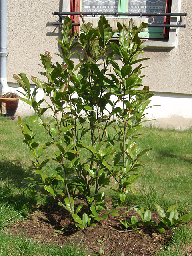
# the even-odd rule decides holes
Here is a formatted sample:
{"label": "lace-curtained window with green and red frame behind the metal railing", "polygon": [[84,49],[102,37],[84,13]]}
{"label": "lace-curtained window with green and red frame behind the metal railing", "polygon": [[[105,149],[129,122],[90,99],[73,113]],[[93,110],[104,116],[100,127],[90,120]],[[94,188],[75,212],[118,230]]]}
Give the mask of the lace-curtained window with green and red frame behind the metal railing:
{"label": "lace-curtained window with green and red frame behind the metal railing", "polygon": [[[171,12],[171,0],[71,0],[71,12]],[[74,18],[78,22],[78,17]],[[164,16],[155,16],[154,24],[168,24],[170,20]],[[149,23],[152,18],[149,18]],[[74,28],[78,32],[78,28]],[[164,38],[168,37],[168,28],[147,28],[146,32],[140,33],[142,38]]]}

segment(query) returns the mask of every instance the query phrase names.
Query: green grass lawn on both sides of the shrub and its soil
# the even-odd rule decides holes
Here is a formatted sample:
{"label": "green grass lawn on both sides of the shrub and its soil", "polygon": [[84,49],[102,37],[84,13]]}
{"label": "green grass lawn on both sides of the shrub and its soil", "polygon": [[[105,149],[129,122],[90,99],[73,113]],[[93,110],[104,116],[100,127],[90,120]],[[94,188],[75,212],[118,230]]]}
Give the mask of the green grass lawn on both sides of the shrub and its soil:
{"label": "green grass lawn on both sides of the shrub and its soil", "polygon": [[[30,122],[29,118],[24,120],[33,126],[37,135],[37,140],[43,144],[46,134],[40,130],[39,126]],[[158,130],[145,128],[142,131],[142,138],[138,138],[137,143],[141,148],[153,148],[142,158],[144,167],[141,177],[135,184],[136,196],[131,192],[127,194],[126,204],[130,207],[138,204],[142,207],[153,209],[154,203],[160,204],[167,209],[172,204],[179,206],[180,213],[192,212],[192,131],[176,131],[176,130]],[[86,138],[85,138],[86,140]],[[26,144],[22,144],[23,136],[16,121],[0,119],[0,225],[1,228],[7,216],[13,216],[20,211],[16,218],[24,218],[34,205],[45,203],[45,199],[40,195],[32,197],[27,189],[20,189],[21,181],[32,175],[32,171],[28,166],[31,164],[32,156]],[[52,149],[49,149],[52,154]],[[84,156],[86,158],[86,155]],[[49,172],[49,170],[47,170]],[[108,192],[107,196],[115,196],[112,192]],[[1,208],[2,207],[2,208]],[[2,210],[1,210],[2,209]],[[5,213],[6,211],[6,213]],[[7,219],[8,220],[8,219]],[[186,231],[188,237],[192,238],[190,228]],[[14,240],[15,239],[15,240]],[[14,240],[14,241],[13,241]],[[189,238],[188,238],[189,240]],[[182,232],[175,234],[170,244],[171,247],[165,248],[161,256],[168,255],[186,255],[172,253],[175,244],[180,246],[189,243],[183,238]],[[0,248],[9,243],[10,251],[12,246],[15,248],[15,254],[6,254],[0,249],[0,256],[6,255],[60,255],[51,254],[51,249],[33,244],[32,248],[28,248],[28,254],[22,254],[17,246],[24,244],[28,246],[28,238],[18,237],[12,238],[8,234],[0,237]],[[4,242],[2,242],[4,241]],[[16,242],[17,241],[17,242]],[[176,242],[177,241],[177,242]],[[179,242],[178,242],[179,241]],[[187,242],[188,241],[188,242]],[[20,245],[21,246],[21,245]],[[22,248],[22,247],[21,247]],[[70,248],[70,247],[69,247]],[[48,252],[48,250],[50,251]],[[38,252],[37,252],[38,250]],[[52,247],[52,251],[56,250]],[[71,249],[67,249],[71,250]],[[35,252],[35,253],[34,253]],[[164,254],[163,254],[164,253]],[[76,255],[76,252],[61,255]],[[87,255],[86,252],[78,255]],[[160,254],[158,254],[160,255]]]}

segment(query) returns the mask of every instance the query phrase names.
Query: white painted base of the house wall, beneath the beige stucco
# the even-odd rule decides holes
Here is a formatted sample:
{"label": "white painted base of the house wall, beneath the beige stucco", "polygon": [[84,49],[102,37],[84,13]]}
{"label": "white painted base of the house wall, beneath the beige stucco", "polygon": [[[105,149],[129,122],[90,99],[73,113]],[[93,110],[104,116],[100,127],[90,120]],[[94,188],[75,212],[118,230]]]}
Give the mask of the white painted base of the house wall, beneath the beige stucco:
{"label": "white painted base of the house wall, beneath the beige stucco", "polygon": [[[18,93],[21,97],[22,94],[18,91],[22,91],[22,88],[15,87],[15,84],[9,85],[11,92]],[[31,87],[31,91],[33,87]],[[40,89],[41,90],[41,89]],[[36,101],[43,98],[43,91],[41,90],[37,94]],[[175,128],[178,130],[189,129],[192,127],[192,95],[191,94],[176,94],[155,92],[155,95],[151,98],[150,106],[160,105],[152,107],[146,110],[146,119],[156,119],[147,122],[146,125],[152,125],[158,128]],[[48,115],[50,113],[46,112]],[[18,116],[30,116],[34,114],[34,111],[28,104],[20,100],[16,115]]]}

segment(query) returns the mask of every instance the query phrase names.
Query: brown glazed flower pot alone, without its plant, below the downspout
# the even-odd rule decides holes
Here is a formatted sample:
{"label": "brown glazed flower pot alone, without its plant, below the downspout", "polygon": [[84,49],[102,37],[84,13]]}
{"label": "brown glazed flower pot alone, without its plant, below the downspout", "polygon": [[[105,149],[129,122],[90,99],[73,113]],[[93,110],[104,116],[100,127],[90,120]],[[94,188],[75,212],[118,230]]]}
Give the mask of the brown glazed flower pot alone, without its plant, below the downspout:
{"label": "brown glazed flower pot alone, without its plant, below the downspout", "polygon": [[19,98],[0,97],[0,115],[4,117],[14,117],[19,104]]}

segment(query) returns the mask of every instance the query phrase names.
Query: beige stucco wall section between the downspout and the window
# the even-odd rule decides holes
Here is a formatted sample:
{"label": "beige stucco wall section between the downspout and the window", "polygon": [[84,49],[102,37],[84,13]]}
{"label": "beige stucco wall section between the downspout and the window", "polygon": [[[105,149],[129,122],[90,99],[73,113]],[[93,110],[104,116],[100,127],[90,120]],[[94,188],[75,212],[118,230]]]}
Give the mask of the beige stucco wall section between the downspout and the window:
{"label": "beige stucco wall section between the downspout and the window", "polygon": [[61,0],[8,0],[7,2],[7,78],[14,82],[13,74],[24,72],[28,77],[40,76],[40,54],[52,52],[54,61],[58,52],[58,27],[52,26],[58,18],[52,12],[62,11]]}

